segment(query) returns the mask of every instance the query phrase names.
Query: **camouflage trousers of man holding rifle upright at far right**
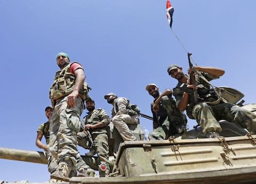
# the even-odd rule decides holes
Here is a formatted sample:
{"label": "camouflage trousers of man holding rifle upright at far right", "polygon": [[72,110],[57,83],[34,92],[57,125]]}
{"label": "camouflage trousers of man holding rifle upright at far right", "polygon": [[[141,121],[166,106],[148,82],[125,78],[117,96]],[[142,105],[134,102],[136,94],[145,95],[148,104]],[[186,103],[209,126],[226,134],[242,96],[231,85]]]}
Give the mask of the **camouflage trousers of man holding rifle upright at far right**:
{"label": "camouflage trousers of man holding rifle upright at far right", "polygon": [[222,129],[218,121],[222,119],[256,133],[256,115],[232,103],[209,105],[202,102],[193,108],[192,113],[197,123],[202,127],[203,133],[221,132]]}

